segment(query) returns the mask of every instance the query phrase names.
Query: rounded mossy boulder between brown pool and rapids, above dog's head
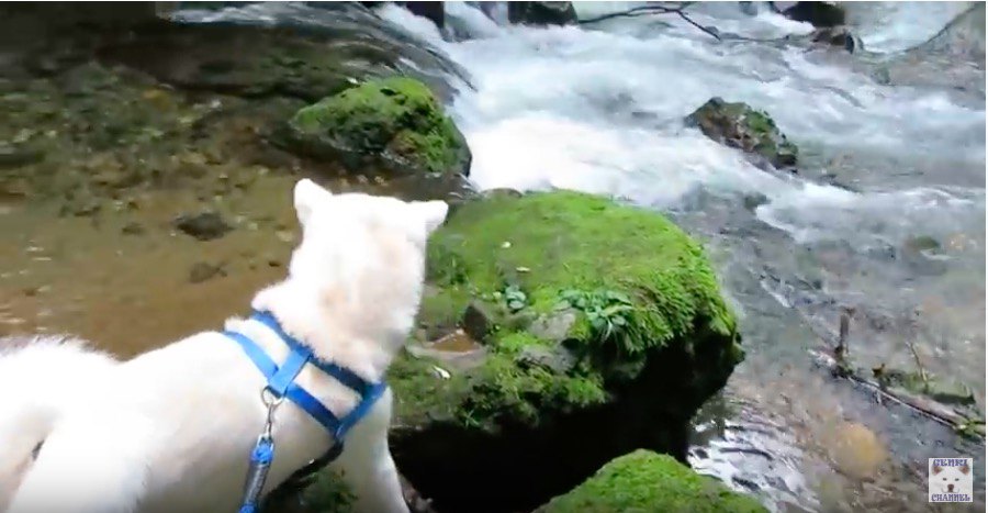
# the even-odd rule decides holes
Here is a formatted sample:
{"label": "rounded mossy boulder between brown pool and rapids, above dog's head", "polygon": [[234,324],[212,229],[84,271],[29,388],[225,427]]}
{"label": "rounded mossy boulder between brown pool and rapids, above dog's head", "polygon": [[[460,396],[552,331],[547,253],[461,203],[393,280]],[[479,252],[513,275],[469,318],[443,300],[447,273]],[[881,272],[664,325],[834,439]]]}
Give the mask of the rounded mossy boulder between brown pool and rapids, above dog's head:
{"label": "rounded mossy boulder between brown pool and rapids, above dog's head", "polygon": [[470,172],[470,148],[442,105],[418,80],[369,80],[305,107],[288,122],[297,153],[356,172]]}

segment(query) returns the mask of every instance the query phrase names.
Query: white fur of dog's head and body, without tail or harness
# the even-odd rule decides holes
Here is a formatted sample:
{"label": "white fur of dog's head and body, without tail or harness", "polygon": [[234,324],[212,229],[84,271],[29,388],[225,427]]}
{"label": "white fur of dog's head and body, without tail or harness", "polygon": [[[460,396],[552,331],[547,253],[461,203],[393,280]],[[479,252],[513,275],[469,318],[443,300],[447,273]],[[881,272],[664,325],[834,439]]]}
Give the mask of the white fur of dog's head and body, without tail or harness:
{"label": "white fur of dog's head and body, without tail or harness", "polygon": [[[426,241],[446,219],[441,201],[337,194],[311,180],[294,191],[303,237],[284,281],[251,306],[268,310],[321,358],[383,379],[418,309]],[[268,327],[231,319],[276,361],[287,347]],[[119,365],[104,393],[54,425],[10,513],[232,512],[263,426],[261,373],[216,332],[192,335]],[[333,412],[358,397],[306,367],[297,382]],[[349,433],[332,466],[364,512],[406,512],[388,448],[386,392]],[[322,455],[332,436],[294,404],[276,414],[276,457],[265,493]]]}

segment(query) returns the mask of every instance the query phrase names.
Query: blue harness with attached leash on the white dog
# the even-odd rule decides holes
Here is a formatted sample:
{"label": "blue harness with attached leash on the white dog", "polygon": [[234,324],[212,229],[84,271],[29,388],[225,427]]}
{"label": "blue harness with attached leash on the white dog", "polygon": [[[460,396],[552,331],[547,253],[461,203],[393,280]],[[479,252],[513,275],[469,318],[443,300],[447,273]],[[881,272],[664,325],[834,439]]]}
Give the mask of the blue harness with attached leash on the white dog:
{"label": "blue harness with attached leash on the white dog", "polygon": [[[323,427],[333,435],[335,444],[321,458],[307,465],[305,468],[292,475],[289,480],[297,478],[303,470],[307,470],[315,465],[319,467],[336,459],[343,453],[344,438],[347,432],[353,427],[357,422],[363,419],[370,409],[374,405],[381,394],[388,389],[385,382],[370,383],[363,378],[355,375],[352,371],[345,369],[336,364],[324,361],[312,354],[312,349],[301,342],[296,341],[289,334],[284,333],[278,320],[270,312],[254,312],[252,320],[262,323],[273,331],[289,347],[289,355],[284,363],[279,367],[254,341],[244,334],[236,332],[223,332],[224,335],[236,341],[244,353],[254,361],[258,370],[265,375],[268,383],[261,390],[261,401],[268,409],[268,417],[265,423],[265,430],[257,438],[257,445],[250,453],[250,469],[247,472],[247,482],[244,490],[244,501],[239,509],[239,513],[255,513],[258,511],[258,501],[261,491],[265,488],[265,479],[271,461],[274,459],[274,438],[271,428],[274,420],[274,410],[284,399],[295,403],[299,408],[308,413]],[[305,391],[302,387],[295,384],[295,377],[305,367],[306,364],[315,366],[323,372],[332,376],[337,381],[360,394],[360,402],[353,410],[343,419],[337,417],[326,406]]]}

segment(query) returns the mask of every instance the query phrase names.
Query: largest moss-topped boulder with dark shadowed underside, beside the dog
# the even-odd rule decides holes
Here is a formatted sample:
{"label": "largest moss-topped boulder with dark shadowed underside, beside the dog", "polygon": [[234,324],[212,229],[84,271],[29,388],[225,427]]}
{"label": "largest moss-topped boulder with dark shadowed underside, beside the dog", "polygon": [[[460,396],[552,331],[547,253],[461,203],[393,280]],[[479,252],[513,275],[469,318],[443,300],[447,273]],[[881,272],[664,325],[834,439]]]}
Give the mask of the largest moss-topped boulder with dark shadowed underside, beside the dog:
{"label": "largest moss-topped boulder with dark shadowed underside, beside the dog", "polygon": [[491,317],[479,361],[391,368],[392,451],[440,511],[530,510],[638,447],[685,458],[689,419],[743,357],[700,245],[608,199],[468,202],[430,239],[428,277],[427,337]]}

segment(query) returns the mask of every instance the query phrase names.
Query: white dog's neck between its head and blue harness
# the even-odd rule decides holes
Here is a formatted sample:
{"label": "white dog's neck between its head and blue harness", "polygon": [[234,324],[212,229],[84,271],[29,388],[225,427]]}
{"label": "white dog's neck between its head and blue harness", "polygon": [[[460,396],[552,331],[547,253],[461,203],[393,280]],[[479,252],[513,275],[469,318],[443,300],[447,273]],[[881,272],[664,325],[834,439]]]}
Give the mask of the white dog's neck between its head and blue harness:
{"label": "white dog's neck between its head and blue harness", "polygon": [[388,341],[371,339],[356,325],[346,309],[336,309],[325,291],[291,278],[257,293],[255,311],[270,312],[288,335],[312,348],[325,361],[345,367],[361,378],[378,382],[400,348]]}

